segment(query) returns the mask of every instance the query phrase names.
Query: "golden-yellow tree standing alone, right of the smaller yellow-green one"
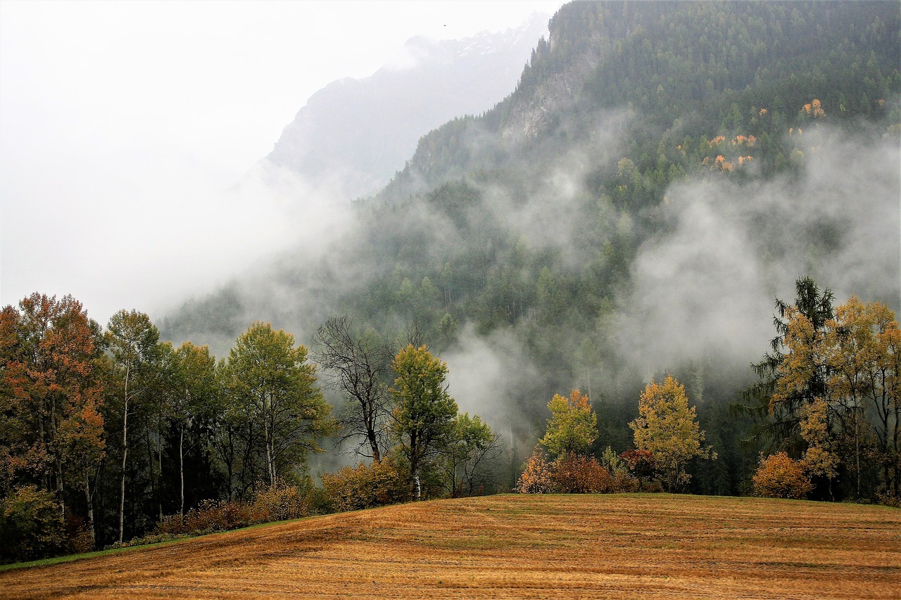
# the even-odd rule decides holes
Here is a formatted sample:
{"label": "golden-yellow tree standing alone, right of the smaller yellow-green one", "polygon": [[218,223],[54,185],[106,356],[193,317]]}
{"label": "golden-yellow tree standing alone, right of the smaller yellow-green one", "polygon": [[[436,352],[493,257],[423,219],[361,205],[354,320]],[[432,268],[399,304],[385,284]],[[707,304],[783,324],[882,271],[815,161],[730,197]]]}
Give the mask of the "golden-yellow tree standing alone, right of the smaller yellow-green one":
{"label": "golden-yellow tree standing alone, right of the smaller yellow-green one", "polygon": [[638,402],[638,414],[629,423],[635,448],[651,452],[669,491],[678,491],[687,484],[691,476],[685,466],[689,460],[716,457],[701,447],[704,432],[696,422],[695,407],[688,407],[685,387],[671,375],[662,384],[651,379]]}

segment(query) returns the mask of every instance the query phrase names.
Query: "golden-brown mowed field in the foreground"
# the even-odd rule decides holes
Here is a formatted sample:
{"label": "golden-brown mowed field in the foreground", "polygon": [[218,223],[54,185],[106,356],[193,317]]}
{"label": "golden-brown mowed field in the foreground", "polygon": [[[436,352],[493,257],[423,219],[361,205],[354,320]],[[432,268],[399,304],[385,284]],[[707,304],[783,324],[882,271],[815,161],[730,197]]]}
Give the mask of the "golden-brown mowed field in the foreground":
{"label": "golden-brown mowed field in the foreground", "polygon": [[32,598],[901,598],[901,511],[497,495],[332,514],[0,573]]}

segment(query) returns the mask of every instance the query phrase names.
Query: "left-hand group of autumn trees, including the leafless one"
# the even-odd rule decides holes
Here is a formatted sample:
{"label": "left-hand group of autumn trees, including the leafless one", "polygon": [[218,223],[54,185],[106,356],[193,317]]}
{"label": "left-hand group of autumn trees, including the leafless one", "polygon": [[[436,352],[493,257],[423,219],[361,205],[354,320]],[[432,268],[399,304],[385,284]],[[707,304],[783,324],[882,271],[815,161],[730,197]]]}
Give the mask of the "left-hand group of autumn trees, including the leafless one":
{"label": "left-hand group of autumn trees, including the leafless one", "polygon": [[[395,353],[335,318],[316,333],[314,357],[347,401],[335,414],[309,351],[269,323],[251,324],[217,360],[205,346],[160,341],[135,310],[103,328],[70,295],[36,293],[6,306],[3,558],[123,545],[160,523],[178,529],[210,502],[314,494],[305,459],[332,436],[359,441],[357,453],[374,465],[362,471],[390,472],[392,501],[473,494],[492,480],[499,436],[459,413],[447,365],[423,343]],[[323,477],[334,495],[351,471]],[[303,511],[343,506],[334,500]]]}

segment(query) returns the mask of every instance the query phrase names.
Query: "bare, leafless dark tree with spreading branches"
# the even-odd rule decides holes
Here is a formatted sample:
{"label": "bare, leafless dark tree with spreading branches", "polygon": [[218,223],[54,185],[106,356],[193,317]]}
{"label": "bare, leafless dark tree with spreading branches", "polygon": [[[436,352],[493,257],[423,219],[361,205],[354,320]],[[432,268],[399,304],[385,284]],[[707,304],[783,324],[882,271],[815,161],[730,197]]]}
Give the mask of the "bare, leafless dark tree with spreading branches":
{"label": "bare, leafless dark tree with spreading branches", "polygon": [[387,438],[391,350],[374,336],[351,335],[346,316],[329,319],[316,330],[312,350],[327,385],[347,399],[339,416],[344,428],[341,441],[361,438],[354,451],[381,461]]}

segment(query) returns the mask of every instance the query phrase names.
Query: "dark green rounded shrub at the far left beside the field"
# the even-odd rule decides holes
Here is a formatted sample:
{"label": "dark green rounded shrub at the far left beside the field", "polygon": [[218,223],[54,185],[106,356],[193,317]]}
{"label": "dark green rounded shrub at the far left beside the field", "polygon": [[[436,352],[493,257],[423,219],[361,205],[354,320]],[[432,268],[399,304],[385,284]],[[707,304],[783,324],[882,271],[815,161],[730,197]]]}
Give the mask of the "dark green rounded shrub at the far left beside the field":
{"label": "dark green rounded shrub at the far left beside the field", "polygon": [[56,496],[35,486],[17,487],[0,501],[0,559],[42,559],[62,550],[66,528]]}

